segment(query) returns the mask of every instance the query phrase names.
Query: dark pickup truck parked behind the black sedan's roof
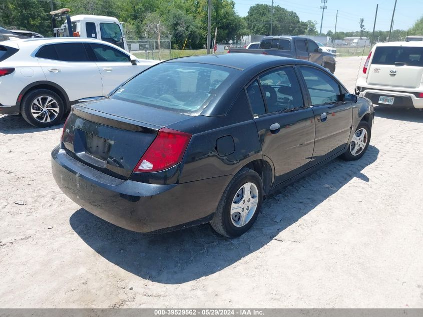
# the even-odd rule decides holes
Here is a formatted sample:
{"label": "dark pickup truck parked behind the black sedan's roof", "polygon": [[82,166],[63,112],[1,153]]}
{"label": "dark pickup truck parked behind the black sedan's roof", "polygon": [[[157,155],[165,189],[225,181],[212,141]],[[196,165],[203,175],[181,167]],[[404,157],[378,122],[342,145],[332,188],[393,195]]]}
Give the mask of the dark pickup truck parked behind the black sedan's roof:
{"label": "dark pickup truck parked behind the black sedan's roof", "polygon": [[230,49],[228,53],[253,53],[296,58],[321,65],[332,74],[336,67],[331,53],[323,52],[313,40],[304,37],[264,37],[260,42],[259,49]]}

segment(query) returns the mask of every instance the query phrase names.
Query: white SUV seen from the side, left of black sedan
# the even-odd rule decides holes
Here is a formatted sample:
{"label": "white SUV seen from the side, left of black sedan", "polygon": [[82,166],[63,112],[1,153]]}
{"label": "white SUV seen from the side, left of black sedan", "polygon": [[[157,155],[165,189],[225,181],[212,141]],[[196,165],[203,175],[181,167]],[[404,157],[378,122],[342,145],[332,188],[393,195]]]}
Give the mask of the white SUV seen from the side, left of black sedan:
{"label": "white SUV seen from the side, left of black sedan", "polygon": [[0,42],[0,115],[49,127],[79,99],[105,96],[156,63],[95,39]]}

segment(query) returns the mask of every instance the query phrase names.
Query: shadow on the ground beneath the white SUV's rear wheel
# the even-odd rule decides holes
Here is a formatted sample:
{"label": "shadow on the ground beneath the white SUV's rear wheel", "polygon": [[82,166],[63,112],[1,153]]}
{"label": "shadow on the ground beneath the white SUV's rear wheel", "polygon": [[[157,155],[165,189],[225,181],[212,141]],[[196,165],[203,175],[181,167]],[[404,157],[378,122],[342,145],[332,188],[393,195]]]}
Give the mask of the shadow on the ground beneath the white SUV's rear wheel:
{"label": "shadow on the ground beneath the white SUV's rear wheel", "polygon": [[59,124],[49,128],[37,128],[30,125],[22,116],[3,115],[0,116],[0,133],[4,134],[24,134],[40,131],[49,131],[63,128],[66,118],[63,118]]}

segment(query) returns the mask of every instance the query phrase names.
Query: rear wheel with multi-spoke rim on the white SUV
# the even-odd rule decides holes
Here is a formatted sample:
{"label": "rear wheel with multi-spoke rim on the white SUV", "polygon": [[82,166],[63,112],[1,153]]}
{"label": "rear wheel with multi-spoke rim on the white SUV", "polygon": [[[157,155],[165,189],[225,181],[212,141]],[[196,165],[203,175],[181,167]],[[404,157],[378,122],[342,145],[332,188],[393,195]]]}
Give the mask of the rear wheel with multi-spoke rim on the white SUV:
{"label": "rear wheel with multi-spoke rim on the white SUV", "polygon": [[22,99],[22,116],[35,127],[47,128],[58,124],[64,112],[62,98],[48,89],[33,90]]}

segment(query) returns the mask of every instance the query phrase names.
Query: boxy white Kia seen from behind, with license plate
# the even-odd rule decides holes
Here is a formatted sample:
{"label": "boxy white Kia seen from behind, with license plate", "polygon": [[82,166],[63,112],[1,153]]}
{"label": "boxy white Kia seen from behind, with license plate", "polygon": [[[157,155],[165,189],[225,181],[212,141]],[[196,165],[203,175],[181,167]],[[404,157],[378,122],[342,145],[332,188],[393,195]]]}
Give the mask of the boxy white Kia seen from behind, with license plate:
{"label": "boxy white Kia seen from behind, with license plate", "polygon": [[355,94],[376,105],[423,108],[423,42],[378,43],[355,83]]}

